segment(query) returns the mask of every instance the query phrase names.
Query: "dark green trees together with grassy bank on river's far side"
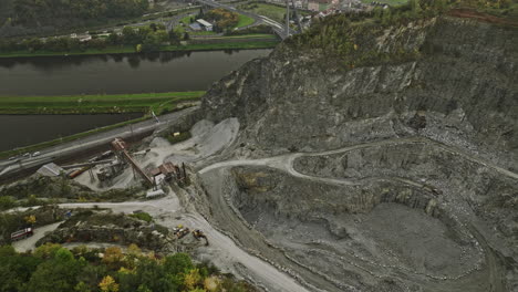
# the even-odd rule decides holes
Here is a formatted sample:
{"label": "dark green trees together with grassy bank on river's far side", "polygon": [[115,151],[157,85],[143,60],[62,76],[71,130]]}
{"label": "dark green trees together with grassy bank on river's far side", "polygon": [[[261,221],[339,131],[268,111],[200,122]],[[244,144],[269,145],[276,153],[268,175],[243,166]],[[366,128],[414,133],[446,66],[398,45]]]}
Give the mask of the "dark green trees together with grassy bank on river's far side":
{"label": "dark green trees together with grassy bank on river's far side", "polygon": [[[236,22],[237,24],[239,23]],[[151,23],[148,27],[125,27],[121,34],[111,32],[108,35],[94,35],[87,42],[81,42],[71,36],[0,39],[0,58],[33,56],[33,55],[62,55],[62,54],[106,54],[106,53],[139,53],[157,51],[194,51],[194,50],[222,50],[222,49],[266,49],[279,43],[274,35],[257,35],[265,33],[265,29],[250,29],[249,42],[238,42],[228,30],[228,36],[218,38],[217,43],[184,43],[190,39],[184,29],[166,31],[164,24]],[[270,31],[271,32],[271,31]],[[270,33],[267,32],[267,33]],[[241,39],[247,38],[240,34]],[[271,38],[270,38],[271,36]],[[260,40],[258,40],[260,39]]]}

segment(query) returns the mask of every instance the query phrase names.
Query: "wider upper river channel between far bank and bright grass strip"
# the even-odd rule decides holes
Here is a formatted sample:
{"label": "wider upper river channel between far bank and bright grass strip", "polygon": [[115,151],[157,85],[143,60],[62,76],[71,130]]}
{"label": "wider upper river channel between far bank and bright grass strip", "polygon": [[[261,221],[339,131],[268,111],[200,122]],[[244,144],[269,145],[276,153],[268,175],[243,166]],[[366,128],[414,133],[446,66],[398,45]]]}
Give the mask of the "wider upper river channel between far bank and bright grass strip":
{"label": "wider upper river channel between far bank and bright grass strip", "polygon": [[0,96],[207,90],[271,50],[0,59]]}

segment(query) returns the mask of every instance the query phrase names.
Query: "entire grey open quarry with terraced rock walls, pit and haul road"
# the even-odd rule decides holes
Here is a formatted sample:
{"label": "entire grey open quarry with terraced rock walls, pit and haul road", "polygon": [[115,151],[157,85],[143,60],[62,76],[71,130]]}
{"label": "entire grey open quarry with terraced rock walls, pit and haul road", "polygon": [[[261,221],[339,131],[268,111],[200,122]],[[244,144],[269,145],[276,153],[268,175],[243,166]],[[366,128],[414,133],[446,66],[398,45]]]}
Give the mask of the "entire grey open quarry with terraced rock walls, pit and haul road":
{"label": "entire grey open quarry with terraced rock walls, pit and haul road", "polygon": [[416,60],[282,44],[216,84],[206,117],[241,128],[199,171],[207,217],[313,291],[517,291],[518,30],[414,24],[364,50]]}

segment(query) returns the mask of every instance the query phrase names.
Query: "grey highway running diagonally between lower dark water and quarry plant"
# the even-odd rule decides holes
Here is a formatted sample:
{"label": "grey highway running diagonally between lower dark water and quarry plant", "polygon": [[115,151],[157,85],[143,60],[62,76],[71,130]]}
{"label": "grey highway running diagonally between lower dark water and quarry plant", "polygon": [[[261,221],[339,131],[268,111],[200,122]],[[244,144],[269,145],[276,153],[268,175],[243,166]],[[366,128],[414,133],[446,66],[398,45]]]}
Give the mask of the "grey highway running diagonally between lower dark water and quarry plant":
{"label": "grey highway running diagonally between lower dark water and quarry plant", "polygon": [[185,116],[194,114],[198,108],[198,106],[194,106],[180,112],[162,115],[159,116],[159,122],[156,122],[154,118],[149,118],[136,124],[114,128],[111,131],[93,134],[81,139],[51,146],[40,150],[41,154],[37,157],[21,157],[15,160],[0,160],[0,178],[4,178],[8,175],[15,174],[27,168],[42,166],[62,157],[71,157],[74,154],[82,153],[102,145],[107,145],[116,137],[127,138],[149,133],[159,127],[166,127]]}

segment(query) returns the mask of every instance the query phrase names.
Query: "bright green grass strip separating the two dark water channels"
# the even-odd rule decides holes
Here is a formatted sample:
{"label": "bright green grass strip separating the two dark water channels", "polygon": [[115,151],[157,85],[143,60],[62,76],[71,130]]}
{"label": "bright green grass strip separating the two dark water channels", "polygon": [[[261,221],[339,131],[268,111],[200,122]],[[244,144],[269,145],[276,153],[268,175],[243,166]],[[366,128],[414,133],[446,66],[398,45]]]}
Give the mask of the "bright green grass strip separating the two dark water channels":
{"label": "bright green grass strip separating the two dark water channels", "polygon": [[0,96],[0,114],[101,114],[173,111],[178,103],[196,101],[205,92],[147,94]]}

